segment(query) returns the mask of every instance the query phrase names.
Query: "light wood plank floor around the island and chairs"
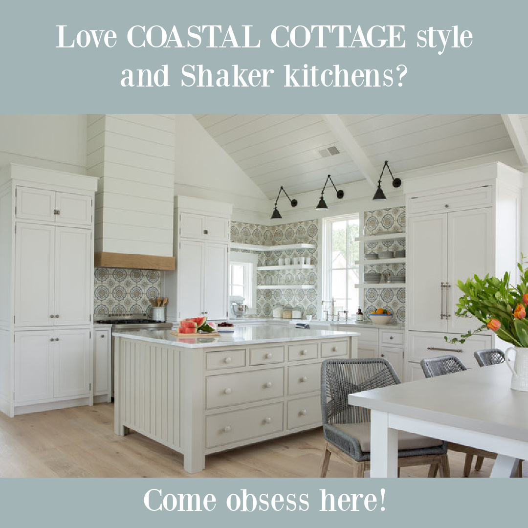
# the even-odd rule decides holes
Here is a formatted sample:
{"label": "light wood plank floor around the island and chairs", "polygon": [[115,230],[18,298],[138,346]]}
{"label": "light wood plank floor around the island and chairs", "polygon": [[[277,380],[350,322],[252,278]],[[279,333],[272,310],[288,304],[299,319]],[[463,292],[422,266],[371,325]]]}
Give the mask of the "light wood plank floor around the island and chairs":
{"label": "light wood plank floor around the island and chairs", "polygon": [[[138,433],[114,435],[114,407],[99,404],[7,418],[0,413],[1,477],[317,477],[322,429],[297,433],[205,458],[195,475],[183,456]],[[449,453],[452,477],[461,477],[464,455]],[[492,461],[471,477],[489,477]],[[525,468],[525,470],[528,468]],[[350,467],[332,458],[328,477],[348,477]],[[368,473],[367,473],[368,475]],[[427,467],[402,468],[402,477],[426,477]]]}

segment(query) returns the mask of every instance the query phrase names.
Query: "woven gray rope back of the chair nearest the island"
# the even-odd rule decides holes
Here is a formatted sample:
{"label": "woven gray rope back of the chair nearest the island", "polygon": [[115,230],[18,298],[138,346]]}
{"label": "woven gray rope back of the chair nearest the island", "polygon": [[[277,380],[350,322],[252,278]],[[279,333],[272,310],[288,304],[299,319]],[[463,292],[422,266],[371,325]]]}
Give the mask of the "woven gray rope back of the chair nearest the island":
{"label": "woven gray rope back of the chair nearest the island", "polygon": [[329,359],[321,364],[323,423],[370,421],[370,410],[348,404],[348,394],[400,383],[384,359]]}

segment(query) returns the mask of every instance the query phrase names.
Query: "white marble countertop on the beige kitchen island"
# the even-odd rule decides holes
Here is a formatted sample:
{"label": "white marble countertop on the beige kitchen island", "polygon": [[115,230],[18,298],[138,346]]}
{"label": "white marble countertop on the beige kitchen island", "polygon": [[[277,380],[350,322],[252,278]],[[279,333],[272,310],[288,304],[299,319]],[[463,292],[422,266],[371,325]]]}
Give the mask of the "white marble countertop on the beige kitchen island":
{"label": "white marble countertop on the beige kitchen island", "polygon": [[234,332],[223,333],[220,337],[200,336],[176,337],[168,330],[122,330],[115,332],[115,337],[127,337],[140,341],[161,343],[164,345],[181,346],[184,348],[218,348],[223,346],[251,345],[261,343],[284,343],[291,341],[307,341],[336,337],[351,337],[360,335],[357,332],[332,330],[315,330],[295,328],[293,326],[247,325],[235,326]]}

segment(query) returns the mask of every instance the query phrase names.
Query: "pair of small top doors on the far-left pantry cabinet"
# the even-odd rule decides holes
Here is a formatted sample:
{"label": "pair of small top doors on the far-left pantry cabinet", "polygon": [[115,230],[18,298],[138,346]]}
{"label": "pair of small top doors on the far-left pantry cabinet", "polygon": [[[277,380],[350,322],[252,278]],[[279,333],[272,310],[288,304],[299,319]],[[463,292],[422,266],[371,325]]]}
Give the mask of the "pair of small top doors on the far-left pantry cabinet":
{"label": "pair of small top doors on the far-left pantry cabinet", "polygon": [[92,223],[93,198],[89,195],[17,185],[15,196],[16,219],[80,226]]}

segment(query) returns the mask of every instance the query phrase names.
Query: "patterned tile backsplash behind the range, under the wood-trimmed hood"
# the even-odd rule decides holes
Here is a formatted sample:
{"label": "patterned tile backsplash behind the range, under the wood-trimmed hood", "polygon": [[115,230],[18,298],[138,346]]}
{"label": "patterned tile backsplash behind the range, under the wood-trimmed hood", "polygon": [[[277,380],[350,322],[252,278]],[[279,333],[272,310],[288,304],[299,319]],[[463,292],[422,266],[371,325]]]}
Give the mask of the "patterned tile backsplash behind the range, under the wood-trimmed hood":
{"label": "patterned tile backsplash behind the range, under the wood-trimmed hood", "polygon": [[148,299],[160,296],[161,274],[156,270],[96,268],[94,315],[149,314]]}

